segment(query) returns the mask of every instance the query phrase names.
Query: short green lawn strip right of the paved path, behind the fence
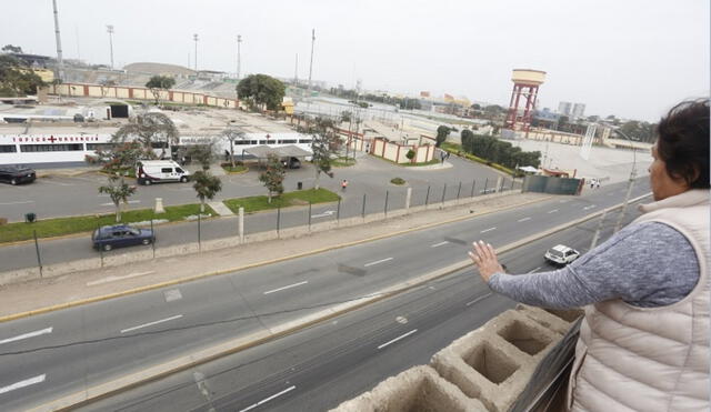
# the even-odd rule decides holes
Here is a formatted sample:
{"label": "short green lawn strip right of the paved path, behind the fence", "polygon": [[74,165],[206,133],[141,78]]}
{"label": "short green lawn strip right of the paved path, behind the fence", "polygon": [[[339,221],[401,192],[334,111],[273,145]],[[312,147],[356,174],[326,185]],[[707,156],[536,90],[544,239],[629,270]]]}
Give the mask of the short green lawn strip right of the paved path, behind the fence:
{"label": "short green lawn strip right of the paved path, behind the fence", "polygon": [[234,213],[239,212],[240,207],[244,208],[246,213],[257,212],[260,210],[269,210],[277,208],[288,208],[293,205],[304,205],[311,203],[337,202],[340,197],[330,190],[323,188],[297,190],[287,192],[280,197],[272,197],[271,203],[267,195],[253,195],[248,198],[228,199],[224,204]]}

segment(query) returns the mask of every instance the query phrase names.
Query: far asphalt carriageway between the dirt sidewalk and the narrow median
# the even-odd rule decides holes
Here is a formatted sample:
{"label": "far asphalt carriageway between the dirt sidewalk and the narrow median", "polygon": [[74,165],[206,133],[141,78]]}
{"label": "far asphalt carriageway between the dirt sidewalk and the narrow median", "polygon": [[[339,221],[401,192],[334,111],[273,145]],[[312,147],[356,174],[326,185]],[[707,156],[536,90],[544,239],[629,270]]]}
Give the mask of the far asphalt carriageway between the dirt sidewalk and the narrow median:
{"label": "far asphalt carriageway between the dirt sidewalk and the narrow median", "polygon": [[[647,184],[638,184],[637,193]],[[609,187],[298,260],[0,324],[0,403],[22,409],[400,283],[621,201]],[[590,237],[590,232],[587,232]],[[547,248],[543,248],[544,250]],[[540,250],[537,262],[540,262]],[[488,318],[487,318],[488,319]]]}

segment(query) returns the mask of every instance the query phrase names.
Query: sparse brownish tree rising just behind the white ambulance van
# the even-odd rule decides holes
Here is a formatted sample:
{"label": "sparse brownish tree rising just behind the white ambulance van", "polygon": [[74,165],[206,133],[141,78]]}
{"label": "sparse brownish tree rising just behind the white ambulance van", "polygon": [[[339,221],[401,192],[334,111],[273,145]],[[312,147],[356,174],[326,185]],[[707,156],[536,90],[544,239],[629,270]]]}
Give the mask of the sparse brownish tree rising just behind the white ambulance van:
{"label": "sparse brownish tree rising just behind the white ambulance van", "polygon": [[162,149],[161,158],[166,155],[166,149],[170,144],[178,143],[178,128],[172,120],[163,113],[143,113],[127,124],[123,124],[113,133],[112,142],[124,143],[126,141],[137,141],[152,152],[154,145]]}

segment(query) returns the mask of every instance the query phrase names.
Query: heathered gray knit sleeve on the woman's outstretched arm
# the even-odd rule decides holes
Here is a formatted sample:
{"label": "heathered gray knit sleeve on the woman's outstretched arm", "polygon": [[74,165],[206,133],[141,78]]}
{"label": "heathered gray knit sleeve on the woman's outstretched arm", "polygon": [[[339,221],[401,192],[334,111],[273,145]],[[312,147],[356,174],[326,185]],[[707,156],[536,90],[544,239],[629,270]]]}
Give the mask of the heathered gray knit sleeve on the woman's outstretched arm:
{"label": "heathered gray knit sleeve on the woman's outstretched arm", "polygon": [[495,273],[489,287],[518,302],[579,308],[610,299],[641,308],[664,307],[688,295],[699,281],[689,240],[660,222],[631,224],[570,265],[511,275]]}

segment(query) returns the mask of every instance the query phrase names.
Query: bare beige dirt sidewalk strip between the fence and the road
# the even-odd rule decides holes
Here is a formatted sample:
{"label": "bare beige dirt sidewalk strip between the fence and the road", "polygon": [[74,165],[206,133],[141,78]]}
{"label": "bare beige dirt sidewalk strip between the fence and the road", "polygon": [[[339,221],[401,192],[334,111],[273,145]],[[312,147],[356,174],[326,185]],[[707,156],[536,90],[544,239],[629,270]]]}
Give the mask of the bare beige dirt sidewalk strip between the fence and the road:
{"label": "bare beige dirt sidewalk strip between the fence and the road", "polygon": [[482,199],[480,202],[450,209],[431,209],[294,239],[247,243],[237,248],[159,258],[121,267],[8,284],[0,287],[0,321],[343,248],[437,224],[471,219],[549,198],[541,193],[521,193]]}

